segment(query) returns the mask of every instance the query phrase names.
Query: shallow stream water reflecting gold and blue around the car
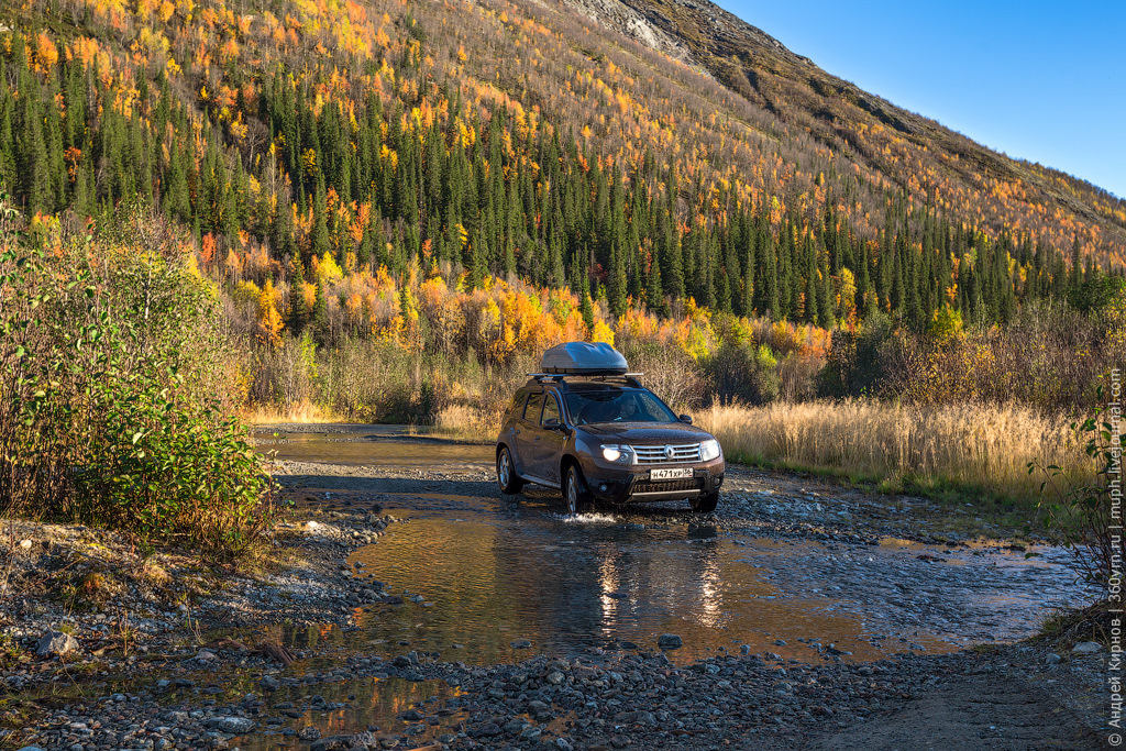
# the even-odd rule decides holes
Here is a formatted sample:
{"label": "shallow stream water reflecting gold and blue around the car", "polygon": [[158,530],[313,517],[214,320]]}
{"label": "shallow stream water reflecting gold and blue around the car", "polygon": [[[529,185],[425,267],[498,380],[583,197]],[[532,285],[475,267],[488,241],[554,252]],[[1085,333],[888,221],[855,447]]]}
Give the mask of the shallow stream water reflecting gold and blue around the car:
{"label": "shallow stream water reflecting gold and blue around the car", "polygon": [[[386,428],[260,439],[278,458],[400,473],[476,470],[480,476],[492,461],[491,446]],[[1081,599],[1067,554],[1055,548],[1026,558],[985,543],[758,537],[753,525],[725,518],[722,499],[707,519],[669,506],[564,516],[552,491],[506,498],[480,480],[448,485],[431,475],[418,492],[383,493],[383,512],[400,522],[348,558],[356,575],[401,593],[402,605],[363,608],[355,629],[296,631],[288,641],[489,665],[540,653],[655,651],[662,634],[676,634],[683,646],[668,654],[678,663],[741,649],[810,662],[867,661],[1018,640],[1035,633],[1053,607]],[[466,486],[476,492],[465,493]],[[334,500],[348,494],[337,492]],[[395,726],[406,706],[449,692],[440,681],[359,682],[346,681],[336,692],[370,700],[327,715],[323,732]]]}

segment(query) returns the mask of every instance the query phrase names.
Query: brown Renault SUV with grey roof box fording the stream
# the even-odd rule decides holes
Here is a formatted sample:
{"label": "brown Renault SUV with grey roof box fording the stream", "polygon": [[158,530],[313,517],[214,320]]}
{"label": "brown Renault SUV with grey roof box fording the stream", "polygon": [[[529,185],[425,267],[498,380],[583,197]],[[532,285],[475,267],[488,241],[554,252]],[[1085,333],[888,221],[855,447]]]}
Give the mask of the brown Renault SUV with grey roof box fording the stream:
{"label": "brown Renault SUV with grey roof box fording the stream", "polygon": [[607,345],[570,342],[544,355],[517,390],[497,439],[503,493],[525,483],[563,491],[569,513],[600,500],[617,506],[687,499],[711,512],[720,500],[720,442],[677,417]]}

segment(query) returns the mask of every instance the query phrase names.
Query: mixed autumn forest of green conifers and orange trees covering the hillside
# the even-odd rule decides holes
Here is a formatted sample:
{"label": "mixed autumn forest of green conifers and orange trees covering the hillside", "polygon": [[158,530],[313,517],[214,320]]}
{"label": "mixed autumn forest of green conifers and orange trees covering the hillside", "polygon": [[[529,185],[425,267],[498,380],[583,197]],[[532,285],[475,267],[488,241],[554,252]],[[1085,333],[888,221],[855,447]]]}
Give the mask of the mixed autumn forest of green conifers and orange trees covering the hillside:
{"label": "mixed autumn forest of green conifers and orange trees covering the hillside", "polygon": [[2,41],[9,204],[48,248],[188,258],[241,342],[248,405],[392,419],[387,397],[341,399],[325,374],[357,364],[324,358],[381,346],[488,370],[591,337],[671,348],[704,378],[691,393],[903,395],[856,375],[888,359],[852,361],[866,322],[911,363],[1120,288],[1109,194],[814,86],[830,137],[806,95],[762,106],[745,75],[725,86],[562,7],[26,0]]}

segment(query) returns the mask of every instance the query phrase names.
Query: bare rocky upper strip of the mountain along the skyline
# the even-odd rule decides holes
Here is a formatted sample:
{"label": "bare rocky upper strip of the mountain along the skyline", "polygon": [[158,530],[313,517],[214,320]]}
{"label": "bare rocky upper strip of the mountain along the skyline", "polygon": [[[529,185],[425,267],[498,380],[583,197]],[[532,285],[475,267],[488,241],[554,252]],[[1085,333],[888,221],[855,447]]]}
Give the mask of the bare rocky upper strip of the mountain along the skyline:
{"label": "bare rocky upper strip of the mountain along the skyline", "polygon": [[[1057,223],[1121,265],[1126,202],[1057,170],[1010,159],[921,115],[863,91],[708,0],[566,0],[598,23],[696,65],[787,125],[939,205],[982,206],[967,221]],[[1051,229],[1047,230],[1049,233]]]}

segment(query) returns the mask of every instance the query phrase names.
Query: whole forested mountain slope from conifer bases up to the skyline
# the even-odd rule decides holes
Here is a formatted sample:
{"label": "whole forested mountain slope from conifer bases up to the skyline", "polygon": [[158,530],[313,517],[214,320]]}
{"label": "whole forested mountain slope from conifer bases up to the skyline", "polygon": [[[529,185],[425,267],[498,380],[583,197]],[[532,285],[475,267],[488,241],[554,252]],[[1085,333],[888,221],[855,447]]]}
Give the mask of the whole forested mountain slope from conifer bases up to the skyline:
{"label": "whole forested mountain slope from conifer bases up to the skyline", "polygon": [[589,288],[615,318],[1004,321],[1123,258],[1123,202],[714,6],[631,2],[26,0],[0,184],[79,227],[140,198],[271,337],[283,311],[370,332],[420,275]]}

